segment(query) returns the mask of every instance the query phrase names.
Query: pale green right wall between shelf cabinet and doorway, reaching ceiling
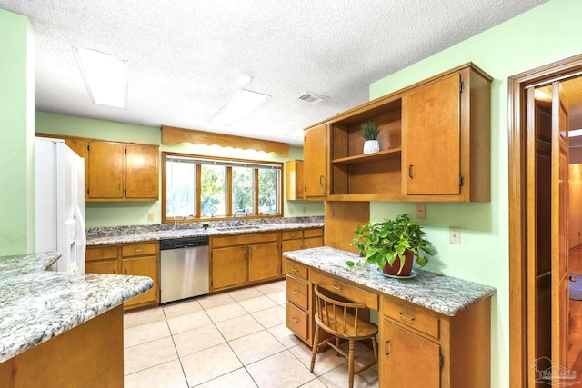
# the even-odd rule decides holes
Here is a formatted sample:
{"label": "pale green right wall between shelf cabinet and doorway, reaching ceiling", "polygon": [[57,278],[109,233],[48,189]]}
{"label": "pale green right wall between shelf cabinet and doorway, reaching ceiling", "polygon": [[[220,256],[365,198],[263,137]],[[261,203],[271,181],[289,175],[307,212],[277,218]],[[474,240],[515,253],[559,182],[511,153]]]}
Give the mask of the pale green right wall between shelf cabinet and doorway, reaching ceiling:
{"label": "pale green right wall between shelf cabinet and doorway, reaching ceiling", "polygon": [[[438,251],[427,269],[497,288],[492,303],[492,387],[509,385],[507,77],[581,54],[580,20],[578,0],[552,0],[370,85],[374,99],[469,61],[495,78],[491,202],[427,204],[422,222]],[[415,204],[371,204],[375,221],[404,212],[415,214]],[[462,229],[460,245],[448,244],[449,226]]]}

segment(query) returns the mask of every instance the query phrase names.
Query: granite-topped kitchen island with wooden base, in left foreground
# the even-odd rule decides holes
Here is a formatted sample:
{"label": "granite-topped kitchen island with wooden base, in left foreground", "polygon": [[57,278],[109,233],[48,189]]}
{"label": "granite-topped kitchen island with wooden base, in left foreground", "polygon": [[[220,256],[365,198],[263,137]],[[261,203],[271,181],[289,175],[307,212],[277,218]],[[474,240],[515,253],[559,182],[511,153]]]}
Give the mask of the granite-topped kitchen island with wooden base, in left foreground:
{"label": "granite-topped kitchen island with wooden base, in left foreground", "polygon": [[0,257],[0,386],[123,386],[122,304],[153,282],[45,271],[59,257]]}

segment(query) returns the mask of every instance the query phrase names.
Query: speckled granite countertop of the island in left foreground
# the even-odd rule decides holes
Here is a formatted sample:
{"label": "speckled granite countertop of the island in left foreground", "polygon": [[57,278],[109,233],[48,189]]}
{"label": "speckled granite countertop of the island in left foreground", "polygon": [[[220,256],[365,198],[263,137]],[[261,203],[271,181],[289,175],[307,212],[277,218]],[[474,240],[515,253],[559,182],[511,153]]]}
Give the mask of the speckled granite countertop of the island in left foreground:
{"label": "speckled granite countertop of the island in left foreground", "polygon": [[0,363],[153,286],[145,276],[45,271],[60,254],[0,257]]}

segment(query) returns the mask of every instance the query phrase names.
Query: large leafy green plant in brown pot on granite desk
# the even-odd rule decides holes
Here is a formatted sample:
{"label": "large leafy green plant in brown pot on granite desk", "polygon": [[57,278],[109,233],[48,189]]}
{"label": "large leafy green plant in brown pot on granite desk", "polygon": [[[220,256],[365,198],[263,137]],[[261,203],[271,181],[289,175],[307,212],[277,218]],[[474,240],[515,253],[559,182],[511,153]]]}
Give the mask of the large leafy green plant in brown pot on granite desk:
{"label": "large leafy green plant in brown pot on granite desk", "polygon": [[414,258],[422,267],[428,261],[427,256],[433,254],[433,245],[426,240],[426,233],[408,214],[400,214],[383,223],[369,222],[359,226],[355,233],[357,237],[352,245],[365,259],[358,264],[346,262],[350,267],[375,263],[384,274],[410,276]]}

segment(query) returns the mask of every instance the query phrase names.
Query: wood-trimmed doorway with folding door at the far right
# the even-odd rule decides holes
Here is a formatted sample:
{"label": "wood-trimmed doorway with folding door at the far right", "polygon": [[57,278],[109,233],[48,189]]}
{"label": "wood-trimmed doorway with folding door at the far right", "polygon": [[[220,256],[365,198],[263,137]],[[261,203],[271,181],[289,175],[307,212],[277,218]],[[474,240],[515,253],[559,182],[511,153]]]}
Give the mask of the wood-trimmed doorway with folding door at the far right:
{"label": "wood-trimmed doorway with folding door at the far right", "polygon": [[[547,386],[539,382],[543,356],[566,373],[580,366],[573,353],[569,362],[567,356],[567,116],[570,106],[582,106],[581,76],[578,55],[509,78],[512,387]],[[582,308],[577,315],[571,317],[573,330],[582,328],[582,321],[576,323]]]}

